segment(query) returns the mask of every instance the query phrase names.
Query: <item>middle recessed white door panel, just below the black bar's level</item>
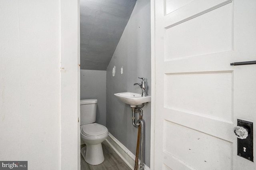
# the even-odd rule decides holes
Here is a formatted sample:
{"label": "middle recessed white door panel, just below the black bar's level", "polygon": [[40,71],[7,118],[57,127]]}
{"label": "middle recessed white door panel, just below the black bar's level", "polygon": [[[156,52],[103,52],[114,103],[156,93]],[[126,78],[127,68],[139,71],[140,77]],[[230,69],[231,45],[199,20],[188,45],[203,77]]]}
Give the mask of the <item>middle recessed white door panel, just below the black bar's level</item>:
{"label": "middle recessed white door panel, just below the black bar's level", "polygon": [[232,72],[167,74],[165,79],[164,107],[233,120]]}

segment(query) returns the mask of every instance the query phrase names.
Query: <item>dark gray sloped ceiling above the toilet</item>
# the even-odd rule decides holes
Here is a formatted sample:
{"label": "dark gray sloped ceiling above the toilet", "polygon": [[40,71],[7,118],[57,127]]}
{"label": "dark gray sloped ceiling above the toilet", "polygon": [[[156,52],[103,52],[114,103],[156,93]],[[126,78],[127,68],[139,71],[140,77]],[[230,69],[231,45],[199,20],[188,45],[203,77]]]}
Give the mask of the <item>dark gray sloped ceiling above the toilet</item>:
{"label": "dark gray sloped ceiling above the toilet", "polygon": [[80,68],[106,70],[136,0],[80,0]]}

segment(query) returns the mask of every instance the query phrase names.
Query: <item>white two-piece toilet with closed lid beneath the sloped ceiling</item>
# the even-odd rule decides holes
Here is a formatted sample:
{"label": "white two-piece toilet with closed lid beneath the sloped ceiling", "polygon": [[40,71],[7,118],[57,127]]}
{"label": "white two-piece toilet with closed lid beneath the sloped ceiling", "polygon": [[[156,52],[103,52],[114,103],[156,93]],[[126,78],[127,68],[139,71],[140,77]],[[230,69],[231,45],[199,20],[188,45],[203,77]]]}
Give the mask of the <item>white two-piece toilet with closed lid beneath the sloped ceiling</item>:
{"label": "white two-piece toilet with closed lid beneath the sloped ceiling", "polygon": [[96,122],[97,99],[80,100],[80,136],[86,144],[81,149],[84,160],[91,165],[104,161],[102,142],[108,137],[108,129]]}

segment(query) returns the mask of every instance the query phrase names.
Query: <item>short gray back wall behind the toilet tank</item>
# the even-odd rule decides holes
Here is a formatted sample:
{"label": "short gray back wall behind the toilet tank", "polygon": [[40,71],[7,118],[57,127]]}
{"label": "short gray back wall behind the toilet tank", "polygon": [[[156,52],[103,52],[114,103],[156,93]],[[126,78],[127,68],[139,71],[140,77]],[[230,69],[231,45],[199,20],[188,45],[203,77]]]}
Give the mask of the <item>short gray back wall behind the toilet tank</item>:
{"label": "short gray back wall behind the toilet tank", "polygon": [[96,122],[106,126],[106,71],[80,70],[80,99],[96,98]]}

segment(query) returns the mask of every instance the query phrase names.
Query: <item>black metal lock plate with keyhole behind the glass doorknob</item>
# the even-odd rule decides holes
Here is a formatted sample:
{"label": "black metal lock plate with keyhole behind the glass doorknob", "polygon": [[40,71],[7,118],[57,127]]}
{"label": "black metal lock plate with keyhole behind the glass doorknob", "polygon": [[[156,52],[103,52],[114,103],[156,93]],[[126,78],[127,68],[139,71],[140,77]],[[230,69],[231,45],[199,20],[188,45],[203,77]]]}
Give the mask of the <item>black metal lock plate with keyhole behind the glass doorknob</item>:
{"label": "black metal lock plate with keyhole behind the glass doorknob", "polygon": [[245,120],[237,120],[237,126],[248,130],[246,139],[237,138],[237,155],[253,162],[253,123]]}

